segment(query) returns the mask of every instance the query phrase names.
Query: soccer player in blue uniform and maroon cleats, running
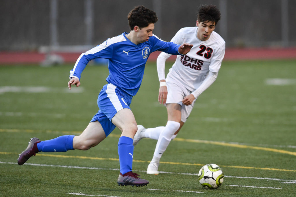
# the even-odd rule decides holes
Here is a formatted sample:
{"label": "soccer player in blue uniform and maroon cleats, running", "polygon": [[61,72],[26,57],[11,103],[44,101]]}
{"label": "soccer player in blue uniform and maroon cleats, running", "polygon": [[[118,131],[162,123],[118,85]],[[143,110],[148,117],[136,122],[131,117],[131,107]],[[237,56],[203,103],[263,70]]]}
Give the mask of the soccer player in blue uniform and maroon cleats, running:
{"label": "soccer player in blue uniform and maroon cleats, running", "polygon": [[79,136],[66,135],[55,139],[40,141],[32,138],[19,158],[18,164],[24,164],[38,152],[66,152],[79,149],[88,150],[99,144],[117,126],[122,132],[118,141],[120,175],[118,185],[147,185],[149,181],[141,179],[132,172],[133,137],[137,123],[130,109],[131,99],[139,90],[147,58],[153,51],[163,51],[173,55],[187,54],[193,45],[177,45],[160,40],[152,34],[157,16],[144,6],[136,6],[128,14],[130,33],[122,33],[104,41],[102,44],[82,53],[70,71],[68,87],[80,86],[80,77],[88,62],[95,58],[109,59],[107,77],[98,96],[99,111]]}

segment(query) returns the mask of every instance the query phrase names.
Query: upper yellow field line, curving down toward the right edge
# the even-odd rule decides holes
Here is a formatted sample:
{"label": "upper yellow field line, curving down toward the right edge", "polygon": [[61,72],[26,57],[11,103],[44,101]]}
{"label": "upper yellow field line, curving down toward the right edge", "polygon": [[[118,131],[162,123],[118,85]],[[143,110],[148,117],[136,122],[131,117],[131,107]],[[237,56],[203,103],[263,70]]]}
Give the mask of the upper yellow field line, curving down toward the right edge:
{"label": "upper yellow field line, curving down toward the right edge", "polygon": [[[30,130],[30,129],[1,129],[0,132],[22,132],[25,131],[27,133],[34,133],[38,131]],[[77,134],[79,135],[81,132],[78,131],[45,131],[46,133],[64,133],[64,134]],[[110,134],[111,137],[120,137],[119,134]],[[282,154],[290,154],[296,156],[296,152],[280,150],[280,149],[272,149],[272,148],[265,148],[265,147],[258,147],[258,146],[248,146],[248,145],[241,145],[241,144],[231,144],[226,142],[218,142],[218,141],[207,141],[207,140],[197,140],[197,139],[184,139],[184,138],[175,138],[174,141],[185,141],[185,142],[192,142],[192,143],[202,143],[202,144],[214,144],[219,146],[230,146],[236,148],[243,148],[243,149],[255,149],[255,150],[263,150],[263,151],[270,151],[270,152],[277,152]]]}

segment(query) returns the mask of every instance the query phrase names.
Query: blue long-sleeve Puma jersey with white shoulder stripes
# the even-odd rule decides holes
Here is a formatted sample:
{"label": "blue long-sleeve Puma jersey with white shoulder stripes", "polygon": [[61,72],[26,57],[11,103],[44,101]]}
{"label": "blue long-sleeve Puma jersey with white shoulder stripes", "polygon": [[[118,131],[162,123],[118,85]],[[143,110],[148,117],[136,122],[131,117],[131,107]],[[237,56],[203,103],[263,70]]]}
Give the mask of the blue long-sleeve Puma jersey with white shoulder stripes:
{"label": "blue long-sleeve Puma jersey with white shoulder stripes", "polygon": [[124,32],[82,53],[70,71],[70,78],[76,77],[80,80],[81,73],[90,60],[106,58],[109,59],[107,82],[133,97],[140,88],[144,67],[150,53],[163,51],[181,55],[178,52],[180,45],[165,42],[155,35],[151,36],[147,42],[136,45],[126,38],[127,34]]}

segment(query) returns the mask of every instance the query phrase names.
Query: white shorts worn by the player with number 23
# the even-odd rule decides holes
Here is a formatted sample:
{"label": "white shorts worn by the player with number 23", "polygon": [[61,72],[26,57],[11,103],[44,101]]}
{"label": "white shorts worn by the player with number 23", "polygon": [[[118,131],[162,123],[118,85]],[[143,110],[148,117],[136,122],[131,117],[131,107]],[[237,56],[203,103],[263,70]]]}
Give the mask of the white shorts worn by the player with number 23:
{"label": "white shorts worn by the player with number 23", "polygon": [[178,103],[181,105],[181,121],[185,123],[193,109],[196,99],[194,99],[191,105],[184,105],[182,100],[185,96],[191,94],[191,91],[186,89],[181,84],[175,84],[170,80],[166,80],[166,84],[168,88],[168,97],[166,103]]}

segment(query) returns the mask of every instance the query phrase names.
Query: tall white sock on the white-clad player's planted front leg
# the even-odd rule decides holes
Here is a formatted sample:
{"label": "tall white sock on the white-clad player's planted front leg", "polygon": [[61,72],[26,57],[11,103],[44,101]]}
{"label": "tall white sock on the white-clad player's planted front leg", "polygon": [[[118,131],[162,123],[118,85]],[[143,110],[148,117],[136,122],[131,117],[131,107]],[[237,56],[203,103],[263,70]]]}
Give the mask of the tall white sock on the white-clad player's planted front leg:
{"label": "tall white sock on the white-clad player's planted front leg", "polygon": [[170,144],[170,140],[173,137],[173,134],[179,129],[180,123],[175,121],[168,121],[167,125],[160,133],[160,136],[157,140],[156,148],[154,151],[155,157],[161,157],[162,154],[165,152],[166,148]]}

